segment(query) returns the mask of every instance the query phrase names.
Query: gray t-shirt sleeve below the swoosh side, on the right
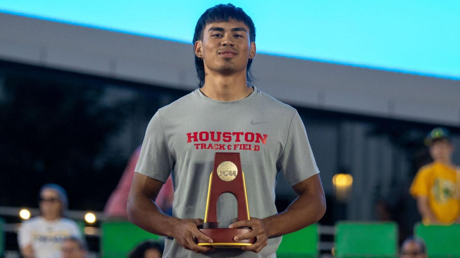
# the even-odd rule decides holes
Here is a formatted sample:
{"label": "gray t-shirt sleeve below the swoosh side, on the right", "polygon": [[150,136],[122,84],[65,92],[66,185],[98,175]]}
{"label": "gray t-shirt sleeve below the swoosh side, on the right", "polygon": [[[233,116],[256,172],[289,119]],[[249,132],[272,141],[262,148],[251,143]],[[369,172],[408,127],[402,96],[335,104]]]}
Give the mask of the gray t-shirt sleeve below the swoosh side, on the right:
{"label": "gray t-shirt sleeve below the swoosh side, on the right", "polygon": [[297,111],[289,125],[288,139],[278,166],[291,186],[319,173],[304,123]]}

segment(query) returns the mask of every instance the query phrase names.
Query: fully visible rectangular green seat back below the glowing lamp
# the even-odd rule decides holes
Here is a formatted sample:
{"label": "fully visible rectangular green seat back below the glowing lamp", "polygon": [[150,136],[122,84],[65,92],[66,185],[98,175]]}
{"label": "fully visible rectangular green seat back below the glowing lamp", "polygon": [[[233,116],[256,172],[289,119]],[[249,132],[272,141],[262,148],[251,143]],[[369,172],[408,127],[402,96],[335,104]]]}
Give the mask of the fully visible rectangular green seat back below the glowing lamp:
{"label": "fully visible rectangular green seat back below the glowing lamp", "polygon": [[335,224],[335,257],[397,257],[398,226],[394,222]]}

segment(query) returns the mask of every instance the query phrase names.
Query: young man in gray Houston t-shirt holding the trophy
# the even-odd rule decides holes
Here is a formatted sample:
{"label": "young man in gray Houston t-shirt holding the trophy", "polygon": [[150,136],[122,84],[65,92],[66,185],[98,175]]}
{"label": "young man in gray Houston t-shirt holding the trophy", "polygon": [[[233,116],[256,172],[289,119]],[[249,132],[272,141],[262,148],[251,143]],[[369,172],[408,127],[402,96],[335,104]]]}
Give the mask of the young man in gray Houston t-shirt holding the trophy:
{"label": "young man in gray Houston t-shirt holding the trophy", "polygon": [[[165,240],[164,257],[276,257],[284,234],[322,218],[326,203],[315,159],[297,111],[247,86],[256,53],[255,28],[241,8],[214,6],[196,24],[195,63],[200,86],[155,113],[145,133],[128,200],[134,224]],[[251,227],[235,240],[241,249],[210,250],[203,223],[215,152],[240,152],[250,220],[232,223],[232,196],[218,203],[219,227]],[[152,201],[173,171],[173,217]],[[284,174],[298,198],[276,212],[275,185]],[[233,198],[235,199],[235,198]],[[213,252],[207,252],[213,251]],[[194,253],[195,252],[195,253]]]}

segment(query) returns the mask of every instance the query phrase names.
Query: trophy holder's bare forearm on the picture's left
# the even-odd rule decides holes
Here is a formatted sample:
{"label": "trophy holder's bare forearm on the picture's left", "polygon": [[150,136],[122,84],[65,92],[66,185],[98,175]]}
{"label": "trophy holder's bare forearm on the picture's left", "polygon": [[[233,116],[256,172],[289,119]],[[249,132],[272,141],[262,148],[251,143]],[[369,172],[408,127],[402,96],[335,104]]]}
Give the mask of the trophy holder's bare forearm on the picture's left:
{"label": "trophy holder's bare forearm on the picture's left", "polygon": [[155,202],[147,196],[130,196],[127,214],[132,223],[159,236],[172,236],[173,226],[180,220],[161,212]]}

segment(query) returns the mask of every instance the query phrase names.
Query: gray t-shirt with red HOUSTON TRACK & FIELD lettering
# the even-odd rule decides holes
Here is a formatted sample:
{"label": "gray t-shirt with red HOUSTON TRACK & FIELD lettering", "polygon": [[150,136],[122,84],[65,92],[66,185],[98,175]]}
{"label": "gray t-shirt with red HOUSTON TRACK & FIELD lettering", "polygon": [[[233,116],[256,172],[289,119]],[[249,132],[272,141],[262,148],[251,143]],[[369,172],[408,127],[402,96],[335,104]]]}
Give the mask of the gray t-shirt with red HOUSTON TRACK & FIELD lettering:
{"label": "gray t-shirt with red HOUSTON TRACK & FIELD lettering", "polygon": [[[174,217],[204,219],[215,152],[240,152],[254,218],[277,213],[278,172],[291,186],[319,173],[297,111],[253,88],[237,101],[213,100],[196,89],[160,108],[150,120],[134,171],[162,182],[173,173]],[[223,194],[218,202],[219,227],[228,227],[233,218],[236,199]],[[163,257],[276,257],[280,242],[281,237],[270,238],[259,253],[216,249],[196,254],[167,238]]]}

